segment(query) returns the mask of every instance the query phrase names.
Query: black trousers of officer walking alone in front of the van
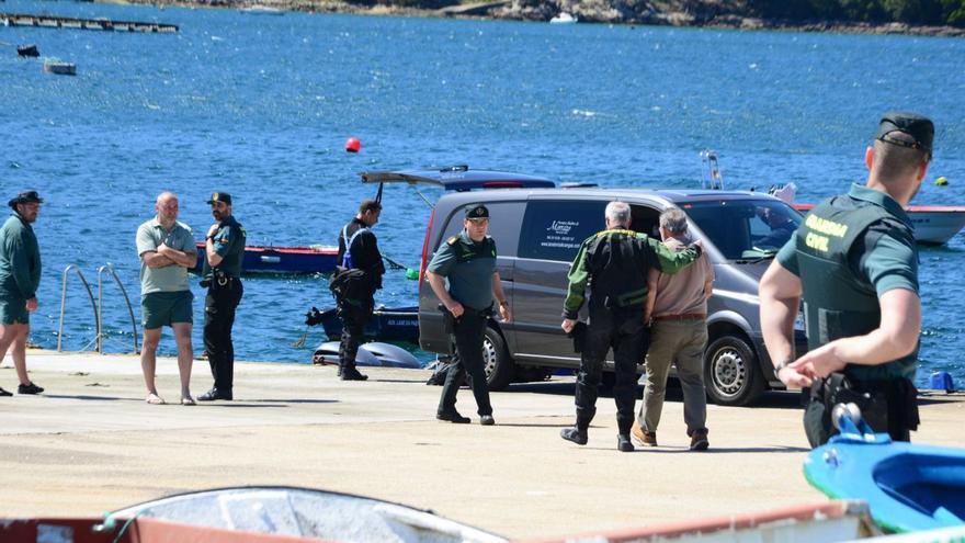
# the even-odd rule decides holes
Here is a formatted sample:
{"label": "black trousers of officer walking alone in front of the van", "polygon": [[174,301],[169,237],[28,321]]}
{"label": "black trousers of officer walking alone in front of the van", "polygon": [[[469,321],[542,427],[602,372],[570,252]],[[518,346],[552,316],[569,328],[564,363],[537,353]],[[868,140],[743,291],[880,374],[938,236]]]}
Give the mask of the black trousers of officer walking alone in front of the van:
{"label": "black trousers of officer walking alone in front of the van", "polygon": [[445,384],[442,385],[442,397],[439,398],[439,411],[451,412],[456,408],[456,393],[459,386],[469,375],[469,386],[473,396],[476,397],[477,412],[492,415],[492,406],[489,404],[489,384],[486,382],[486,370],[483,366],[483,338],[486,333],[488,315],[465,308],[459,318],[453,323],[453,335],[456,340],[456,357],[452,367],[445,375]]}

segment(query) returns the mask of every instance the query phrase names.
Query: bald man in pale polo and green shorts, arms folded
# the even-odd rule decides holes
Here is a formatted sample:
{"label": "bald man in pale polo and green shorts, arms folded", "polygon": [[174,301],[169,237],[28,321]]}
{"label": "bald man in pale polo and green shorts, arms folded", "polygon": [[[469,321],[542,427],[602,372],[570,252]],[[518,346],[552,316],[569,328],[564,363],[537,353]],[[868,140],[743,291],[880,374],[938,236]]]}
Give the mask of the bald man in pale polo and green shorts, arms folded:
{"label": "bald man in pale polo and green shorts, arms folded", "polygon": [[191,397],[191,346],[194,295],[188,286],[188,270],[197,261],[191,228],[178,222],[178,196],[162,192],[155,203],[157,216],[137,228],[137,253],[140,256],[140,309],[144,346],[140,367],[147,385],[148,404],[164,400],[155,386],[155,366],[161,329],[170,326],[178,343],[178,370],[181,373],[181,404],[193,406]]}

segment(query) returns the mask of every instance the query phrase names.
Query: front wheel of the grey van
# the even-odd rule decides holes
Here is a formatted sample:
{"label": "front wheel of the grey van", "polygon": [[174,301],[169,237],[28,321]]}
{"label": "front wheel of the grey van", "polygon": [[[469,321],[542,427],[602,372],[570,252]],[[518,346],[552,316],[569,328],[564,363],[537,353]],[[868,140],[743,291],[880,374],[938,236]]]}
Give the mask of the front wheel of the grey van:
{"label": "front wheel of the grey van", "polygon": [[704,351],[704,384],[711,400],[722,406],[750,404],[765,385],[753,350],[737,336],[717,338]]}

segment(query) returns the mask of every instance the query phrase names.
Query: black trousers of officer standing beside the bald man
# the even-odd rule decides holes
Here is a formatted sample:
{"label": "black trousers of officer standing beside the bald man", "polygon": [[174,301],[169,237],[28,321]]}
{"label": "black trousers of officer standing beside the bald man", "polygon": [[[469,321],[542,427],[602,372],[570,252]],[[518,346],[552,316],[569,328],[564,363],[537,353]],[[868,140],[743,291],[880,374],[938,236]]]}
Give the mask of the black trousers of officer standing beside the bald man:
{"label": "black trousers of officer standing beside the bald man", "polygon": [[235,326],[235,309],[243,293],[241,280],[230,278],[224,285],[212,283],[204,298],[204,350],[215,377],[215,388],[220,392],[231,392],[235,382],[231,327]]}

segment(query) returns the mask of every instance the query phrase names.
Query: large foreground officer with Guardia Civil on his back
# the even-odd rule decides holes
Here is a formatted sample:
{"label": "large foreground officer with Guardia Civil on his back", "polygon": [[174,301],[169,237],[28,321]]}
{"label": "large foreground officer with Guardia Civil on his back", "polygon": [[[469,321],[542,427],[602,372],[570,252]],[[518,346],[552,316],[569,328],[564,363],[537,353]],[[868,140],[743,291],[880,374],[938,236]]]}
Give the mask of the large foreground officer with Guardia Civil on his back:
{"label": "large foreground officer with Guardia Civil on his back", "polygon": [[[921,301],[918,251],[904,211],[931,160],[934,125],[889,112],[865,150],[864,186],[815,206],[761,280],[761,329],[777,377],[808,388],[811,446],[836,433],[830,412],[854,401],[877,432],[909,441],[918,427]],[[809,352],[794,360],[804,298]]]}

